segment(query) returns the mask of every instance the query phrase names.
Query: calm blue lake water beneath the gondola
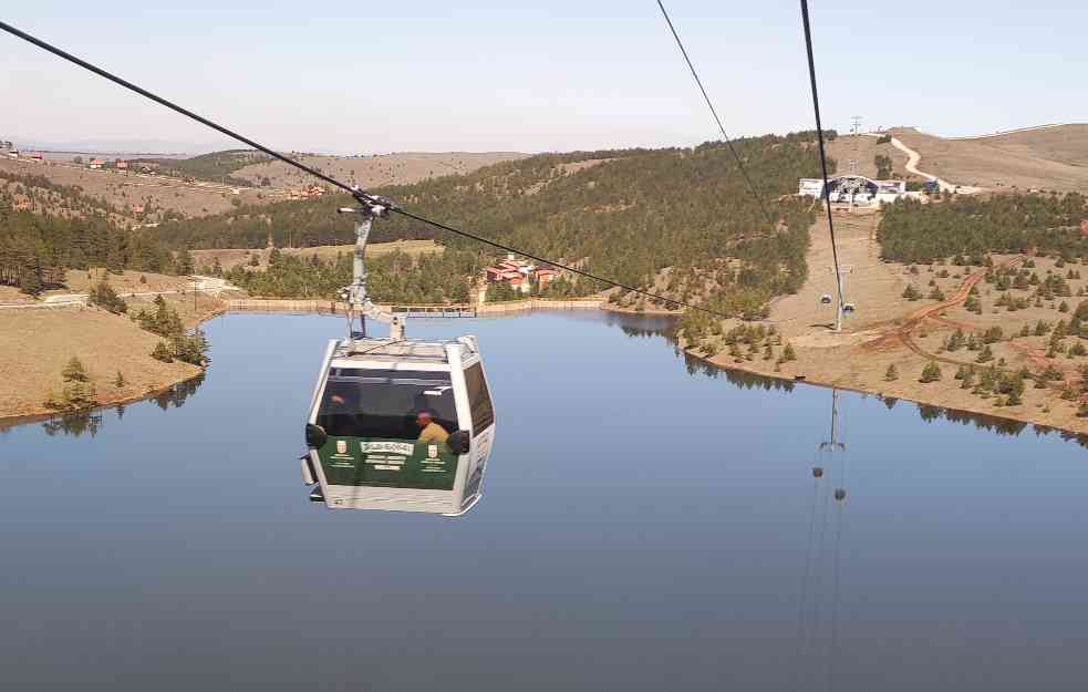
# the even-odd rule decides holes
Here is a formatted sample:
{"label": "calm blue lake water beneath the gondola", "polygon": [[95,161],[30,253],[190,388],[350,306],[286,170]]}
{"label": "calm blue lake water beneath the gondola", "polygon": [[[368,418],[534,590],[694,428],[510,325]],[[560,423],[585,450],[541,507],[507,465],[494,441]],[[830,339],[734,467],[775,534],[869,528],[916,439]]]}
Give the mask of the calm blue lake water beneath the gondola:
{"label": "calm blue lake water beneath the gondola", "polygon": [[459,519],[307,500],[339,319],[217,319],[204,382],[0,434],[3,689],[1082,689],[1084,447],[842,393],[820,452],[829,390],[704,372],[660,327],[411,323],[488,359]]}

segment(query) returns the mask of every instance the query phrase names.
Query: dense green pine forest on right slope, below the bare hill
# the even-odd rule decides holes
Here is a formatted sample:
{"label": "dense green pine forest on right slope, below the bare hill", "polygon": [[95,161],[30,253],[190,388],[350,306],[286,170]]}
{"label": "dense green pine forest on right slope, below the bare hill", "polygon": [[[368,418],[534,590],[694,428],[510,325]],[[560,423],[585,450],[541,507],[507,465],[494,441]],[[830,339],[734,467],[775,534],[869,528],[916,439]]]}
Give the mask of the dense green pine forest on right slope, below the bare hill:
{"label": "dense green pine forest on right slope, below the bare hill", "polygon": [[878,233],[883,258],[901,262],[1033,248],[1085,257],[1084,219],[1088,219],[1088,199],[1077,193],[959,196],[934,204],[901,200],[884,207]]}

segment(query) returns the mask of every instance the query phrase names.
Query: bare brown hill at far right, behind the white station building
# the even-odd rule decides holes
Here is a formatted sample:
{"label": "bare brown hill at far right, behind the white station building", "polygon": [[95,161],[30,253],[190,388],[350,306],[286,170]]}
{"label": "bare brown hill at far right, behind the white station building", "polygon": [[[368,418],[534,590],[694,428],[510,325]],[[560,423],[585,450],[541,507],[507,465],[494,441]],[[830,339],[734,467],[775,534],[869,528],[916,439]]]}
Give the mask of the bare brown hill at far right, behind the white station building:
{"label": "bare brown hill at far right, behind the white station building", "polygon": [[921,154],[919,168],[991,192],[1088,193],[1088,125],[1059,125],[949,140],[913,128],[890,133]]}

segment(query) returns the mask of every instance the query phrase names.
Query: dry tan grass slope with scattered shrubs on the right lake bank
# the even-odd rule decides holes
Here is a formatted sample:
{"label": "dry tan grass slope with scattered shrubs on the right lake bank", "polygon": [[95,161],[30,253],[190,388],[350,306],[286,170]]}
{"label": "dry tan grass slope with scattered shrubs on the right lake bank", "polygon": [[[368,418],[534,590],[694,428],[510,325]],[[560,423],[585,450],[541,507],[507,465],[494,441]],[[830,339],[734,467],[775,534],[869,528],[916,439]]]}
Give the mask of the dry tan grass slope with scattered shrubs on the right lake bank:
{"label": "dry tan grass slope with scattered shrubs on the right lake bank", "polygon": [[[1088,432],[1088,420],[1077,417],[1077,402],[1063,401],[1055,388],[1034,389],[1027,383],[1024,403],[1018,406],[998,406],[997,399],[981,399],[968,390],[960,389],[960,382],[954,379],[956,364],[941,363],[943,379],[940,382],[922,384],[919,375],[930,358],[919,354],[908,348],[895,333],[905,318],[925,306],[936,304],[936,301],[923,298],[911,302],[902,298],[902,291],[908,283],[915,283],[924,296],[933,289],[932,280],[945,296],[953,296],[972,271],[978,268],[946,266],[919,266],[919,272],[912,273],[906,266],[881,262],[879,246],[870,240],[870,233],[878,221],[875,214],[859,214],[856,216],[837,216],[836,231],[839,237],[839,256],[843,265],[852,265],[854,270],[847,277],[847,299],[857,304],[854,317],[846,322],[841,334],[830,332],[828,326],[833,320],[833,308],[821,306],[819,298],[822,293],[835,293],[833,275],[827,270],[830,266],[830,244],[828,241],[826,221],[817,224],[812,229],[812,245],[808,257],[809,279],[795,296],[776,300],[771,306],[768,323],[775,324],[786,341],[794,345],[797,360],[775,370],[775,362],[764,361],[759,357],[753,360],[736,362],[732,357],[722,353],[713,362],[726,368],[742,368],[764,374],[792,378],[804,375],[807,381],[820,384],[880,393],[885,396],[908,399],[924,403],[974,411],[989,415],[998,415],[1043,425],[1051,425],[1076,432]],[[1012,257],[995,256],[995,262],[1013,259]],[[1024,259],[1024,258],[1019,258]],[[1008,312],[1006,309],[995,309],[995,301],[1001,291],[993,285],[980,282],[980,299],[983,313],[974,314],[962,304],[947,309],[921,321],[911,331],[912,341],[930,355],[959,362],[972,363],[978,352],[961,349],[955,352],[941,352],[942,343],[955,329],[982,332],[989,327],[999,326],[1004,330],[1004,340],[992,345],[994,361],[1004,358],[1005,368],[1017,370],[1027,366],[1032,372],[1040,372],[1046,364],[1044,358],[1049,337],[1009,337],[1018,334],[1025,324],[1034,327],[1039,320],[1054,324],[1059,319],[1068,319],[1068,313],[1058,311],[1065,300],[1070,310],[1085,298],[1076,297],[1079,289],[1088,290],[1088,266],[1067,265],[1056,268],[1055,261],[1047,258],[1034,258],[1036,267],[1033,271],[1045,278],[1047,270],[1066,276],[1069,269],[1079,270],[1082,279],[1067,279],[1074,292],[1071,298],[1058,298],[1042,308],[1034,307],[1034,288],[1009,292],[1014,297],[1032,297],[1026,310]],[[942,270],[949,276],[940,277]],[[1076,338],[1067,338],[1071,345]],[[777,352],[776,352],[777,354]],[[1064,371],[1069,382],[1076,380],[1076,370],[1088,358],[1068,358],[1058,355],[1051,363]],[[884,375],[888,366],[894,364],[899,370],[899,379],[887,382]],[[986,363],[988,365],[989,363]]]}

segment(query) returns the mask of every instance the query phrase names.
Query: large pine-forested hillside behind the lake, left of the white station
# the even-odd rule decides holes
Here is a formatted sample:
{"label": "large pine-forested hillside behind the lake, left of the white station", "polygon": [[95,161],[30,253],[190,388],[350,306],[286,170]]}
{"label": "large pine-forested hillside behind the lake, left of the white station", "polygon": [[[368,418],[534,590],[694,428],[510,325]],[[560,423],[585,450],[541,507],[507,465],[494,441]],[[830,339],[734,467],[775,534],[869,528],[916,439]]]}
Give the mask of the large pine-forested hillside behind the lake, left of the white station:
{"label": "large pine-forested hillside behind the lake, left of the white station", "polygon": [[[808,132],[735,143],[769,218],[723,144],[546,154],[467,176],[372,192],[415,214],[535,254],[583,262],[625,283],[649,285],[665,267],[680,268],[677,276],[704,267],[715,273],[719,288],[748,290],[753,299],[765,300],[804,280],[811,217],[788,195],[797,178],[818,172],[814,141],[815,133]],[[164,224],[159,234],[175,247],[194,248],[256,248],[269,239],[291,247],[344,244],[353,240],[352,219],[335,209],[346,203],[343,196],[327,196],[243,207]],[[372,238],[435,238],[450,250],[478,254],[480,261],[494,257],[470,240],[396,216],[375,224]],[[734,261],[716,261],[725,259]],[[580,292],[600,288],[583,283]]]}

